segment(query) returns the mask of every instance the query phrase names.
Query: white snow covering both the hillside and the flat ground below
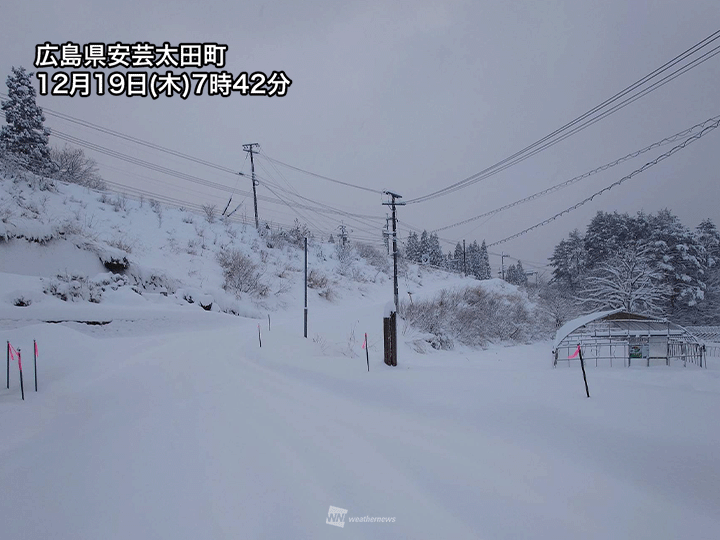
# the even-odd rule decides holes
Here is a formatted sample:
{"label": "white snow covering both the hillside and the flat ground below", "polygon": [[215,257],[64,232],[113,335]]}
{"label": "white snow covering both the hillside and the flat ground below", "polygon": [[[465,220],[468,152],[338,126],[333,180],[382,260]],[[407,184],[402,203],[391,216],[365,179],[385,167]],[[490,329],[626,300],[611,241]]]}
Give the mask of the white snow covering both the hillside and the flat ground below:
{"label": "white snow covering both the hillside and the flat ground below", "polygon": [[[13,364],[9,389],[0,378],[0,538],[720,530],[713,359],[706,370],[590,367],[587,399],[579,367],[552,368],[549,341],[434,351],[418,346],[431,341],[424,330],[402,326],[389,368],[386,259],[339,260],[312,242],[304,339],[292,238],[268,247],[250,227],[158,208],[0,181],[0,341],[23,351],[26,394]],[[262,273],[239,298],[217,260],[232,250]],[[431,304],[471,283],[411,267],[400,291]],[[347,510],[342,530],[330,506]],[[393,520],[352,519],[365,517]]]}

